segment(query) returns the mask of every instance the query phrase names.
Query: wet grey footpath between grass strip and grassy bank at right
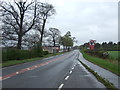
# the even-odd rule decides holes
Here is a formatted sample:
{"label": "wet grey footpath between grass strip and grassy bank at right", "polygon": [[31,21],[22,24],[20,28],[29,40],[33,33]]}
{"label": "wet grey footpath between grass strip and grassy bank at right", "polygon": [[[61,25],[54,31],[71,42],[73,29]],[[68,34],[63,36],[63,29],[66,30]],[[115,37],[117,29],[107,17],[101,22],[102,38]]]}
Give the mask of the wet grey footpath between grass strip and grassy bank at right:
{"label": "wet grey footpath between grass strip and grassy bank at right", "polygon": [[113,83],[115,87],[120,88],[120,77],[117,76],[116,74],[98,66],[95,65],[91,62],[89,62],[88,60],[86,60],[82,53],[79,52],[79,60],[81,62],[83,62],[84,64],[86,64],[89,68],[91,68],[92,70],[94,70],[95,72],[97,72],[101,77],[105,78],[106,80],[108,80],[109,82]]}

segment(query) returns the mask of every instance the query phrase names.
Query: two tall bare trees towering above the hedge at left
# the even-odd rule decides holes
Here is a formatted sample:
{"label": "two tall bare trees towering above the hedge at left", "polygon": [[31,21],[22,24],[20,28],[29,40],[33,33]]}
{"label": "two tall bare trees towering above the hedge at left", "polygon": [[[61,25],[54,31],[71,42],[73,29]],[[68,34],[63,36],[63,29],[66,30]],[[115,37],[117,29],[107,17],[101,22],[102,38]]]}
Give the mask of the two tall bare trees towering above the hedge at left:
{"label": "two tall bare trees towering above the hedge at left", "polygon": [[2,44],[17,49],[38,42],[42,46],[46,21],[55,12],[53,5],[37,0],[1,1]]}

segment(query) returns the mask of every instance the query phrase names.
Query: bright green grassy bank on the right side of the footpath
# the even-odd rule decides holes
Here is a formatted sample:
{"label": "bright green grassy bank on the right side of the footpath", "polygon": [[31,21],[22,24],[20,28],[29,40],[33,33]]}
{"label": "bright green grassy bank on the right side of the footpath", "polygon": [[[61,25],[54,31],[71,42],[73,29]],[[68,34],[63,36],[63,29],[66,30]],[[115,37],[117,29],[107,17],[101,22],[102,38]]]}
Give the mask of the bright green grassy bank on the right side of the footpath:
{"label": "bright green grassy bank on the right side of the footpath", "polygon": [[84,51],[81,51],[81,52],[85,59],[120,76],[120,71],[118,70],[118,68],[120,68],[120,65],[114,64],[106,59],[101,59],[101,58],[98,58],[95,56],[90,56],[90,55],[86,54]]}

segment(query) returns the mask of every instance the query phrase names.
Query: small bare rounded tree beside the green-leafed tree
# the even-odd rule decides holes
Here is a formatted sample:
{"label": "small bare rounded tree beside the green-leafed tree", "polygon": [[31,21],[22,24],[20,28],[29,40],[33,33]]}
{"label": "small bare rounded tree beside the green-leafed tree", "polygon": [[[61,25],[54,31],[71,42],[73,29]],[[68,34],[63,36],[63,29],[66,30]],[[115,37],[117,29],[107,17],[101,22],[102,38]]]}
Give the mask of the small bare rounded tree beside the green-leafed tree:
{"label": "small bare rounded tree beside the green-leafed tree", "polygon": [[57,28],[49,28],[48,35],[49,35],[48,41],[50,43],[53,43],[53,46],[59,44],[60,31]]}

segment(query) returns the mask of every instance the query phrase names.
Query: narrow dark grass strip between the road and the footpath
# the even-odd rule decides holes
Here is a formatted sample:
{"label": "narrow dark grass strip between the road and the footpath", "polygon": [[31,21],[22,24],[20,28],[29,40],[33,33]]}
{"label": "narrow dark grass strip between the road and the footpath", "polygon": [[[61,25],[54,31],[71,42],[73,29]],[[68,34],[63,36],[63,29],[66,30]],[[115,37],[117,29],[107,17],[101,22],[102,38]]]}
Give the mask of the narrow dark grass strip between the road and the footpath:
{"label": "narrow dark grass strip between the road and the footpath", "polygon": [[85,65],[83,62],[81,62],[80,60],[78,60],[89,72],[91,72],[99,82],[103,83],[106,88],[108,88],[109,90],[119,90],[118,88],[116,88],[111,82],[109,82],[108,80],[106,80],[105,78],[102,78],[100,75],[98,75],[97,72],[94,72],[92,69],[90,69],[87,65]]}

